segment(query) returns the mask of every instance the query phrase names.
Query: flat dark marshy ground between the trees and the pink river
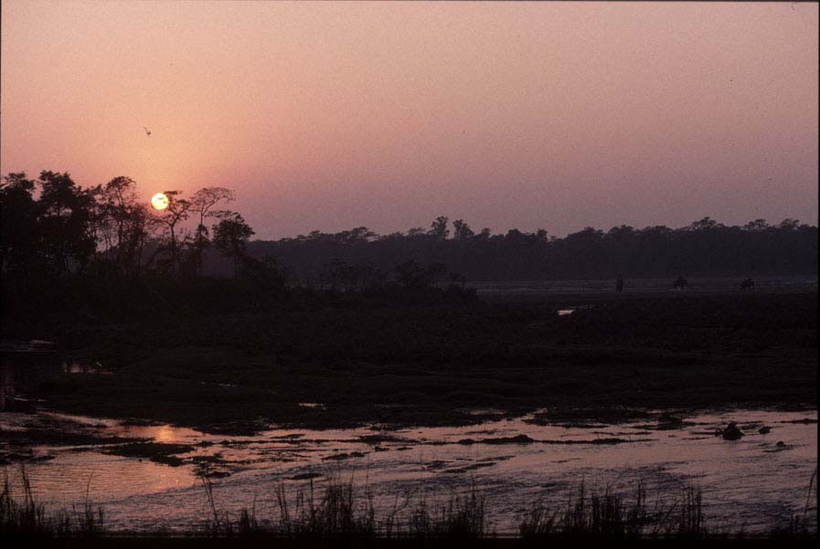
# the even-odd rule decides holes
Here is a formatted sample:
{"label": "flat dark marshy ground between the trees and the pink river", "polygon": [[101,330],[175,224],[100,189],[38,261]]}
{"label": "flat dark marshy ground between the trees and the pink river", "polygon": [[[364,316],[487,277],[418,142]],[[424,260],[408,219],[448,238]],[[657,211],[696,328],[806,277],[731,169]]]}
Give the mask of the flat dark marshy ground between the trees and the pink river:
{"label": "flat dark marshy ground between the trees and the pink river", "polygon": [[105,336],[88,329],[78,352],[105,357],[112,374],[64,375],[39,396],[80,414],[223,432],[461,425],[483,421],[472,411],[484,408],[616,423],[644,409],[816,407],[816,292],[599,296],[562,317],[551,299],[429,307],[343,297],[105,326]]}

